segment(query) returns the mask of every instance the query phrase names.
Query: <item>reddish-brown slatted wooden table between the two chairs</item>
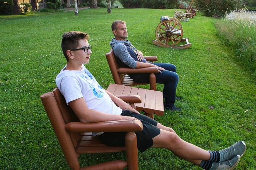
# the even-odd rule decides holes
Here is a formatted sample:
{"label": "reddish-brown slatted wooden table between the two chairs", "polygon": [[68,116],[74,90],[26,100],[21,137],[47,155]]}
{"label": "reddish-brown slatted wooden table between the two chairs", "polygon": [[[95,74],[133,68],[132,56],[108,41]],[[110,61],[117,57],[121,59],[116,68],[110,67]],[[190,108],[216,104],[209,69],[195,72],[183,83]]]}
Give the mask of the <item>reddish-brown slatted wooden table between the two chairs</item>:
{"label": "reddish-brown slatted wooden table between the two chairs", "polygon": [[158,116],[164,115],[164,102],[161,91],[118,84],[110,84],[107,91],[113,95],[139,95],[142,102],[135,104],[137,111],[144,111],[145,115],[152,119],[154,119],[154,114]]}

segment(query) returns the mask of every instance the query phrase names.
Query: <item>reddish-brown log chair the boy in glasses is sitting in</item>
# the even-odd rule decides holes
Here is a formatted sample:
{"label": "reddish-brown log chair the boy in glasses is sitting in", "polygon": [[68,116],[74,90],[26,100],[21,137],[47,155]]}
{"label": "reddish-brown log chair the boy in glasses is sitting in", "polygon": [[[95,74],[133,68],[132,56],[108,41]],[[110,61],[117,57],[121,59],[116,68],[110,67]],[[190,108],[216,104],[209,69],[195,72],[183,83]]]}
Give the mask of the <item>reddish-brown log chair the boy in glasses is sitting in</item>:
{"label": "reddish-brown log chair the boy in glasses is sitting in", "polygon": [[[127,103],[139,103],[137,95],[121,96]],[[68,165],[73,170],[138,170],[137,139],[134,131],[142,131],[139,120],[104,121],[97,123],[81,123],[71,108],[66,104],[60,91],[55,88],[53,92],[41,95],[53,130],[58,138]],[[134,106],[134,105],[132,105]],[[126,146],[112,147],[103,145],[98,137],[91,132],[127,132]],[[105,153],[126,151],[126,161],[113,160],[106,163],[80,168],[79,155],[84,153]]]}

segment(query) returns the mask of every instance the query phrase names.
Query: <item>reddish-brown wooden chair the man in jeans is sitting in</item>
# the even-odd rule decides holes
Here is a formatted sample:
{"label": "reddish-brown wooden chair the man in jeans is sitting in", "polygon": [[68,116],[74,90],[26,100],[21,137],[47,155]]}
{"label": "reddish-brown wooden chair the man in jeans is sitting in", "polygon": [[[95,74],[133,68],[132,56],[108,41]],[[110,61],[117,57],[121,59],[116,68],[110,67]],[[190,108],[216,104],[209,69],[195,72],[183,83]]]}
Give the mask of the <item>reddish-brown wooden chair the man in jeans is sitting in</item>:
{"label": "reddish-brown wooden chair the man in jeans is sitting in", "polygon": [[[147,61],[154,62],[158,61],[156,56],[144,56]],[[126,85],[126,86],[136,86],[136,85],[150,85],[150,90],[156,90],[156,78],[154,73],[158,73],[158,69],[155,67],[147,67],[147,68],[127,68],[120,67],[116,61],[113,50],[106,53],[106,58],[108,62],[108,66],[110,67],[110,71],[112,77],[114,79],[115,84]],[[129,77],[128,73],[149,73],[149,83],[137,83],[134,82],[132,78]]]}

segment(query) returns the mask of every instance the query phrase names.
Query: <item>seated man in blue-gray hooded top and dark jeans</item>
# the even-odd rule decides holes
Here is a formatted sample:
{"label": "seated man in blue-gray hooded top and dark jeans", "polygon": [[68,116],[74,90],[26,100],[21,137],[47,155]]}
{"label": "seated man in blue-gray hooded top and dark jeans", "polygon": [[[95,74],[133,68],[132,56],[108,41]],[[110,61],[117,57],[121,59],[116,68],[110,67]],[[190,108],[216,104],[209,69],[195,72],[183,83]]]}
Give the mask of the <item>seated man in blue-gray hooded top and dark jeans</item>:
{"label": "seated man in blue-gray hooded top and dark jeans", "polygon": [[[176,89],[178,84],[178,74],[176,66],[169,63],[150,63],[145,60],[143,53],[137,50],[132,43],[127,40],[126,22],[117,20],[112,23],[112,31],[115,36],[110,42],[110,46],[117,57],[121,67],[129,68],[144,68],[156,67],[159,73],[155,73],[156,83],[164,84],[163,96],[165,98],[164,108],[170,111],[181,111],[180,108],[174,105],[176,98]],[[133,81],[139,83],[148,83],[149,74],[128,74]]]}

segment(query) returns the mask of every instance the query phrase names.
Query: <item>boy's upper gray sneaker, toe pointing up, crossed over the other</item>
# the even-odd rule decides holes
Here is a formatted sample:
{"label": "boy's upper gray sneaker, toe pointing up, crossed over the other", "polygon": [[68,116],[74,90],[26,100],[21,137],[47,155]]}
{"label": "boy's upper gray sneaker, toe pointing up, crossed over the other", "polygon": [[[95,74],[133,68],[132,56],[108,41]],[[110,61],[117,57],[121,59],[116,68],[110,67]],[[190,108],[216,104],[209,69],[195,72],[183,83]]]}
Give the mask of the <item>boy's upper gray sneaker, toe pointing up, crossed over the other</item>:
{"label": "boy's upper gray sneaker, toe pointing up, crossed over the other", "polygon": [[244,155],[246,150],[246,145],[244,141],[238,141],[234,145],[222,149],[219,151],[220,153],[220,162],[227,161],[233,159],[236,155]]}

